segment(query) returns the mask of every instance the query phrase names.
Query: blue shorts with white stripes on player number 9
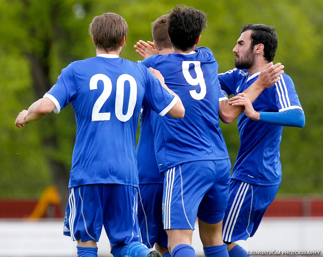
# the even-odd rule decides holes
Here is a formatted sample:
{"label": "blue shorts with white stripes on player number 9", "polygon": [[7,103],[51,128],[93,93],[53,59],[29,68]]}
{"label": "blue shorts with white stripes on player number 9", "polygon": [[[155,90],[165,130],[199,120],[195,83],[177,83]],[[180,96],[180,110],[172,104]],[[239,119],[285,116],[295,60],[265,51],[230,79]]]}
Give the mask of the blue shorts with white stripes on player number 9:
{"label": "blue shorts with white stripes on player number 9", "polygon": [[230,169],[230,160],[224,159],[186,162],[166,171],[164,229],[194,230],[196,217],[206,223],[222,221]]}

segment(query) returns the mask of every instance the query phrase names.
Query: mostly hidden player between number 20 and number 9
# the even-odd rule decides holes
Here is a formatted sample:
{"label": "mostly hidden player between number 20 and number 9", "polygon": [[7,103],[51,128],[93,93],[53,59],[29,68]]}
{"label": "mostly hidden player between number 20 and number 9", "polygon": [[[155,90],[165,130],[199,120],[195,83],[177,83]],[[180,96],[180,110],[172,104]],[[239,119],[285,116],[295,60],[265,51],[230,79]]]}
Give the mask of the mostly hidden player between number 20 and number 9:
{"label": "mostly hidden player between number 20 and number 9", "polygon": [[[167,35],[168,19],[169,14],[162,15],[153,22],[151,30],[153,42],[146,43],[140,40],[134,46],[141,57],[145,58],[156,51],[161,55],[172,53],[172,42]],[[145,107],[140,116],[140,136],[136,154],[139,174],[138,221],[142,242],[149,248],[155,245],[156,250],[164,255],[168,252],[161,209],[164,174],[159,172],[157,166],[151,128],[151,109]]]}

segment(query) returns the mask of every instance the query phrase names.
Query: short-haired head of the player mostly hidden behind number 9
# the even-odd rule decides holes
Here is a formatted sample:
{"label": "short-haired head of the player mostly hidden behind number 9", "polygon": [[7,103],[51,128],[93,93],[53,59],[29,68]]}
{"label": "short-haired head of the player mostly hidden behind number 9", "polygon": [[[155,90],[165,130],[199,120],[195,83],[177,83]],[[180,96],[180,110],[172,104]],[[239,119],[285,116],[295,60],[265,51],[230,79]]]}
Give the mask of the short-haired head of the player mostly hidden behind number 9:
{"label": "short-haired head of the player mostly hidden behind number 9", "polygon": [[158,50],[162,50],[164,48],[172,48],[172,42],[167,34],[168,22],[169,14],[165,14],[151,23],[152,38],[154,39]]}

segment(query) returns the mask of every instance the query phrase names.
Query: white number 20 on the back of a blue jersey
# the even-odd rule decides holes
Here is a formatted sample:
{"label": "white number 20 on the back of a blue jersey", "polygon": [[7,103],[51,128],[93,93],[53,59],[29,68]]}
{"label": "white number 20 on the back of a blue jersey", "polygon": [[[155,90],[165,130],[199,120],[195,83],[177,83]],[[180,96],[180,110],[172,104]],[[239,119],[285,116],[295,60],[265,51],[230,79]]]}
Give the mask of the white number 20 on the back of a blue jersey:
{"label": "white number 20 on the back of a blue jersey", "polygon": [[[112,91],[111,79],[104,74],[93,75],[90,79],[90,90],[98,89],[99,80],[103,82],[103,92],[96,100],[93,106],[92,121],[110,120],[110,115],[111,115],[109,112],[99,112],[103,104],[111,94],[111,91]],[[122,113],[125,81],[129,81],[129,84],[130,84],[130,97],[129,97],[129,104],[128,104],[128,110],[126,115]],[[136,101],[137,101],[136,80],[134,79],[134,77],[128,74],[120,75],[117,79],[117,91],[116,91],[116,103],[115,103],[116,117],[123,122],[129,120],[133,115],[133,111],[136,106]]]}

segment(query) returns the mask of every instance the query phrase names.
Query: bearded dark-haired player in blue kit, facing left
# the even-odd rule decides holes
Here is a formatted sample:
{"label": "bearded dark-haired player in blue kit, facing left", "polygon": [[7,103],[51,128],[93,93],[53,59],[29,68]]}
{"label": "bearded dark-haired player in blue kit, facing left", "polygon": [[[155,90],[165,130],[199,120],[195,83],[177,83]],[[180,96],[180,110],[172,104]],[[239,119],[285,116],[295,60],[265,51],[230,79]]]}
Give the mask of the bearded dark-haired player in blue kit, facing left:
{"label": "bearded dark-haired player in blue kit, facing left", "polygon": [[[230,257],[250,256],[235,243],[252,237],[281,182],[279,144],[283,126],[303,127],[305,116],[292,79],[283,73],[251,104],[242,93],[274,59],[277,35],[273,27],[248,24],[233,49],[235,67],[218,74],[222,90],[234,105],[245,107],[238,118],[240,149],[230,181],[223,221],[223,240]],[[236,98],[239,98],[236,100]]]}

